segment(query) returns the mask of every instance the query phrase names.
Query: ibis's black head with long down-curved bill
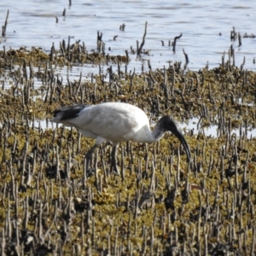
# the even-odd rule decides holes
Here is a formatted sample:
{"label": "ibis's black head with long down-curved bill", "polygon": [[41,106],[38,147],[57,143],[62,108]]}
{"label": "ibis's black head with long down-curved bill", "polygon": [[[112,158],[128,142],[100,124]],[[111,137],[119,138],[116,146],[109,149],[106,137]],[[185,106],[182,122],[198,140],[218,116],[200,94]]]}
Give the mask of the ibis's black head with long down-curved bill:
{"label": "ibis's black head with long down-curved bill", "polygon": [[166,116],[163,116],[162,118],[160,118],[160,120],[158,121],[158,125],[162,131],[171,131],[172,134],[178,138],[180,143],[183,144],[183,147],[186,151],[188,162],[189,162],[189,160],[191,158],[189,144],[183,137],[183,134],[181,133],[181,131],[178,130],[176,121],[174,119],[172,119],[172,117],[170,115],[166,115]]}

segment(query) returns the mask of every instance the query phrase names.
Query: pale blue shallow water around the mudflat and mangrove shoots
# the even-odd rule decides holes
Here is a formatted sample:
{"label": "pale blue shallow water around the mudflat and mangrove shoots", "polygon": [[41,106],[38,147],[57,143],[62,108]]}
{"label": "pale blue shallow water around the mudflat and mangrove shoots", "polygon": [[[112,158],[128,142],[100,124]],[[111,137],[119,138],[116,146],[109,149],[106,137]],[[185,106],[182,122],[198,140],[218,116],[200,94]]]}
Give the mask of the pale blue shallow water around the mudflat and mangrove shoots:
{"label": "pale blue shallow water around the mudflat and mangrove shoots", "polygon": [[[62,16],[64,8],[66,15]],[[131,47],[136,49],[137,41],[141,44],[147,21],[143,49],[148,50],[149,55],[137,58],[130,52],[129,71],[135,67],[136,73],[140,73],[142,65],[147,71],[148,60],[153,69],[167,67],[175,61],[182,61],[184,65],[183,49],[189,55],[189,69],[198,71],[207,63],[209,68],[218,67],[224,52],[227,60],[231,44],[235,49],[236,66],[240,66],[245,57],[244,68],[256,69],[253,64],[256,38],[242,38],[241,47],[238,47],[238,40],[230,41],[233,26],[241,36],[255,32],[256,6],[253,1],[73,1],[71,6],[68,6],[68,1],[60,0],[28,0],[22,4],[17,0],[1,1],[1,26],[8,9],[7,34],[5,38],[0,38],[0,48],[19,49],[25,46],[30,49],[36,46],[49,52],[53,43],[58,48],[61,40],[70,36],[71,44],[81,40],[91,51],[96,50],[97,32],[102,32],[107,53],[125,55],[125,49],[130,52]],[[125,31],[119,30],[122,24],[125,24]],[[183,36],[177,40],[176,51],[173,52],[168,42],[181,33]],[[113,41],[116,35],[118,37]],[[107,68],[102,67],[102,72],[105,73]],[[116,70],[117,67],[113,67],[113,71]],[[125,65],[121,66],[121,70],[125,70]],[[90,77],[90,73],[99,73],[99,67],[78,65],[71,69],[58,68],[56,72],[66,83],[67,76],[71,80],[79,79],[82,72],[83,78]],[[40,85],[41,82],[35,80],[35,86]],[[194,126],[191,120],[189,129],[195,128],[196,132]],[[204,131],[206,134],[217,134],[216,127]]]}

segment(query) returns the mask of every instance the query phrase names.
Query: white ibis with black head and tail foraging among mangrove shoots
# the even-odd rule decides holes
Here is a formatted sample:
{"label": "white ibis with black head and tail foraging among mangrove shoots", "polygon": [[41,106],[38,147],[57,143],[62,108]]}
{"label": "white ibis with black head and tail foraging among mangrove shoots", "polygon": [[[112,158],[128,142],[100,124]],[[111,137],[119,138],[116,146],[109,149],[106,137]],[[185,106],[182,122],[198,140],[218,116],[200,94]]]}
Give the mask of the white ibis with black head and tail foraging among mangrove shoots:
{"label": "white ibis with black head and tail foraging among mangrove shoots", "polygon": [[96,143],[85,155],[87,170],[94,150],[105,141],[113,143],[111,169],[119,173],[116,160],[119,143],[154,143],[160,140],[166,131],[171,131],[183,144],[188,161],[191,157],[188,143],[169,115],[159,119],[154,131],[150,130],[148,116],[141,108],[122,102],[73,105],[56,109],[53,115],[51,122],[75,127],[84,137],[96,139]]}

